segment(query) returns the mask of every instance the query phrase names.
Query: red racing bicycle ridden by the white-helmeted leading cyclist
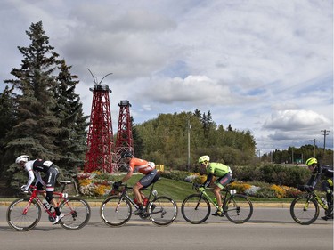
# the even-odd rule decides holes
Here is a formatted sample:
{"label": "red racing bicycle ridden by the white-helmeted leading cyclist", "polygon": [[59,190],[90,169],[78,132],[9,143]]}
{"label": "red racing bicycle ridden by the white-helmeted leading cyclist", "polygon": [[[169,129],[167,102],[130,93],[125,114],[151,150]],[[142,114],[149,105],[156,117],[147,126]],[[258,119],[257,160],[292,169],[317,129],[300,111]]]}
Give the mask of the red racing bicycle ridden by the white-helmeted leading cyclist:
{"label": "red racing bicycle ridden by the white-helmeted leading cyclist", "polygon": [[[91,216],[91,208],[86,200],[77,197],[68,197],[67,193],[63,193],[66,185],[70,181],[60,181],[62,184],[61,192],[53,192],[58,197],[57,205],[64,214],[59,223],[66,230],[79,230],[83,228],[89,221]],[[50,222],[54,222],[56,217],[53,206],[50,208],[48,204],[44,204],[41,198],[45,190],[37,190],[37,186],[31,185],[28,193],[29,198],[18,198],[12,202],[7,209],[6,220],[14,230],[31,230],[36,227],[42,216],[42,210],[48,214]]]}

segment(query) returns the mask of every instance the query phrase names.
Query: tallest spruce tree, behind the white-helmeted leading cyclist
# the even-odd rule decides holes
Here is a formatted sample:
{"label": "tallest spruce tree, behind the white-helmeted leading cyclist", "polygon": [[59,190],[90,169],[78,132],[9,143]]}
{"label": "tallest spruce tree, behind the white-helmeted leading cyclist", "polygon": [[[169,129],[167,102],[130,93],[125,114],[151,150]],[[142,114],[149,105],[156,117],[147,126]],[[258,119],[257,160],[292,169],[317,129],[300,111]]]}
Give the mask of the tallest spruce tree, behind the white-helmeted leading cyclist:
{"label": "tallest spruce tree, behind the white-helmeted leading cyclist", "polygon": [[[55,138],[59,133],[59,120],[53,115],[55,105],[53,71],[58,54],[49,45],[42,22],[32,23],[27,36],[29,47],[18,47],[23,55],[20,69],[12,69],[15,79],[5,80],[15,88],[17,117],[10,133],[6,135],[7,149],[4,167],[11,165],[15,157],[28,154],[50,160],[59,158]],[[9,171],[14,171],[11,165]]]}

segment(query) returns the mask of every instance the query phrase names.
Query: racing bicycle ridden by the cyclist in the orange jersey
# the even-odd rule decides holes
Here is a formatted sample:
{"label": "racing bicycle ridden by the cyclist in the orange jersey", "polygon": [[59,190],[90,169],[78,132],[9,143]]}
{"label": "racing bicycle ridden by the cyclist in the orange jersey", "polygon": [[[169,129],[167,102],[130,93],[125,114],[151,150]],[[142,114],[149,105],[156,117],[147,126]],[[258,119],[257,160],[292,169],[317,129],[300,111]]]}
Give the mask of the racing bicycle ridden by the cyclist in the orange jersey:
{"label": "racing bicycle ridden by the cyclist in the orange jersey", "polygon": [[[132,216],[133,207],[139,209],[134,199],[127,193],[133,188],[127,184],[122,184],[123,190],[118,195],[111,195],[103,200],[100,207],[100,217],[102,222],[110,227],[120,227],[128,222]],[[177,205],[172,198],[167,196],[158,196],[158,192],[153,190],[154,183],[149,190],[148,203],[144,206],[144,212],[138,214],[142,219],[149,218],[150,221],[158,226],[167,226],[175,221],[177,217]],[[115,190],[111,190],[111,194]],[[152,199],[151,199],[152,198]]]}

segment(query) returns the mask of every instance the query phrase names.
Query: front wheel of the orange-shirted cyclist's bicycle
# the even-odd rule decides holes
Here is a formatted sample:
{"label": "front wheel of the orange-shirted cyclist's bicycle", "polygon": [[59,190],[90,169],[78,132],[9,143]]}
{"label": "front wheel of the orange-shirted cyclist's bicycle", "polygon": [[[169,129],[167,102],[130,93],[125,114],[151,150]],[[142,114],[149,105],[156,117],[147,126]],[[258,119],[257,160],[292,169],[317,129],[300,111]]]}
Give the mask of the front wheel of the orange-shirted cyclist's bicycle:
{"label": "front wheel of the orange-shirted cyclist's bicycle", "polygon": [[131,218],[132,206],[127,198],[112,196],[106,198],[100,206],[102,222],[110,227],[119,227]]}

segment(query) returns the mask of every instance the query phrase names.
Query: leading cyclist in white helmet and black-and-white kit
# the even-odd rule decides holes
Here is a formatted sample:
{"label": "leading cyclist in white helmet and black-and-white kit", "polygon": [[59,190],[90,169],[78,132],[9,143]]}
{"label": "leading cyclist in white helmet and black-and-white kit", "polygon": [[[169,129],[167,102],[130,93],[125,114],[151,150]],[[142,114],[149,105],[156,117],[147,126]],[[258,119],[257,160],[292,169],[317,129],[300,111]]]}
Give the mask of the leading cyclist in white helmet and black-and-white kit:
{"label": "leading cyclist in white helmet and black-and-white kit", "polygon": [[[17,157],[15,163],[24,168],[29,175],[27,184],[20,188],[22,191],[27,192],[31,183],[35,180],[35,177],[37,178],[37,181],[35,182],[37,190],[43,190],[45,187],[46,194],[43,195],[46,201],[54,207],[57,216],[53,222],[53,225],[57,224],[61,218],[64,217],[64,215],[61,214],[57,203],[53,199],[54,185],[59,176],[58,169],[51,161],[45,161],[42,159],[30,160],[29,156],[27,155]],[[45,174],[45,181],[43,181],[40,173]]]}

